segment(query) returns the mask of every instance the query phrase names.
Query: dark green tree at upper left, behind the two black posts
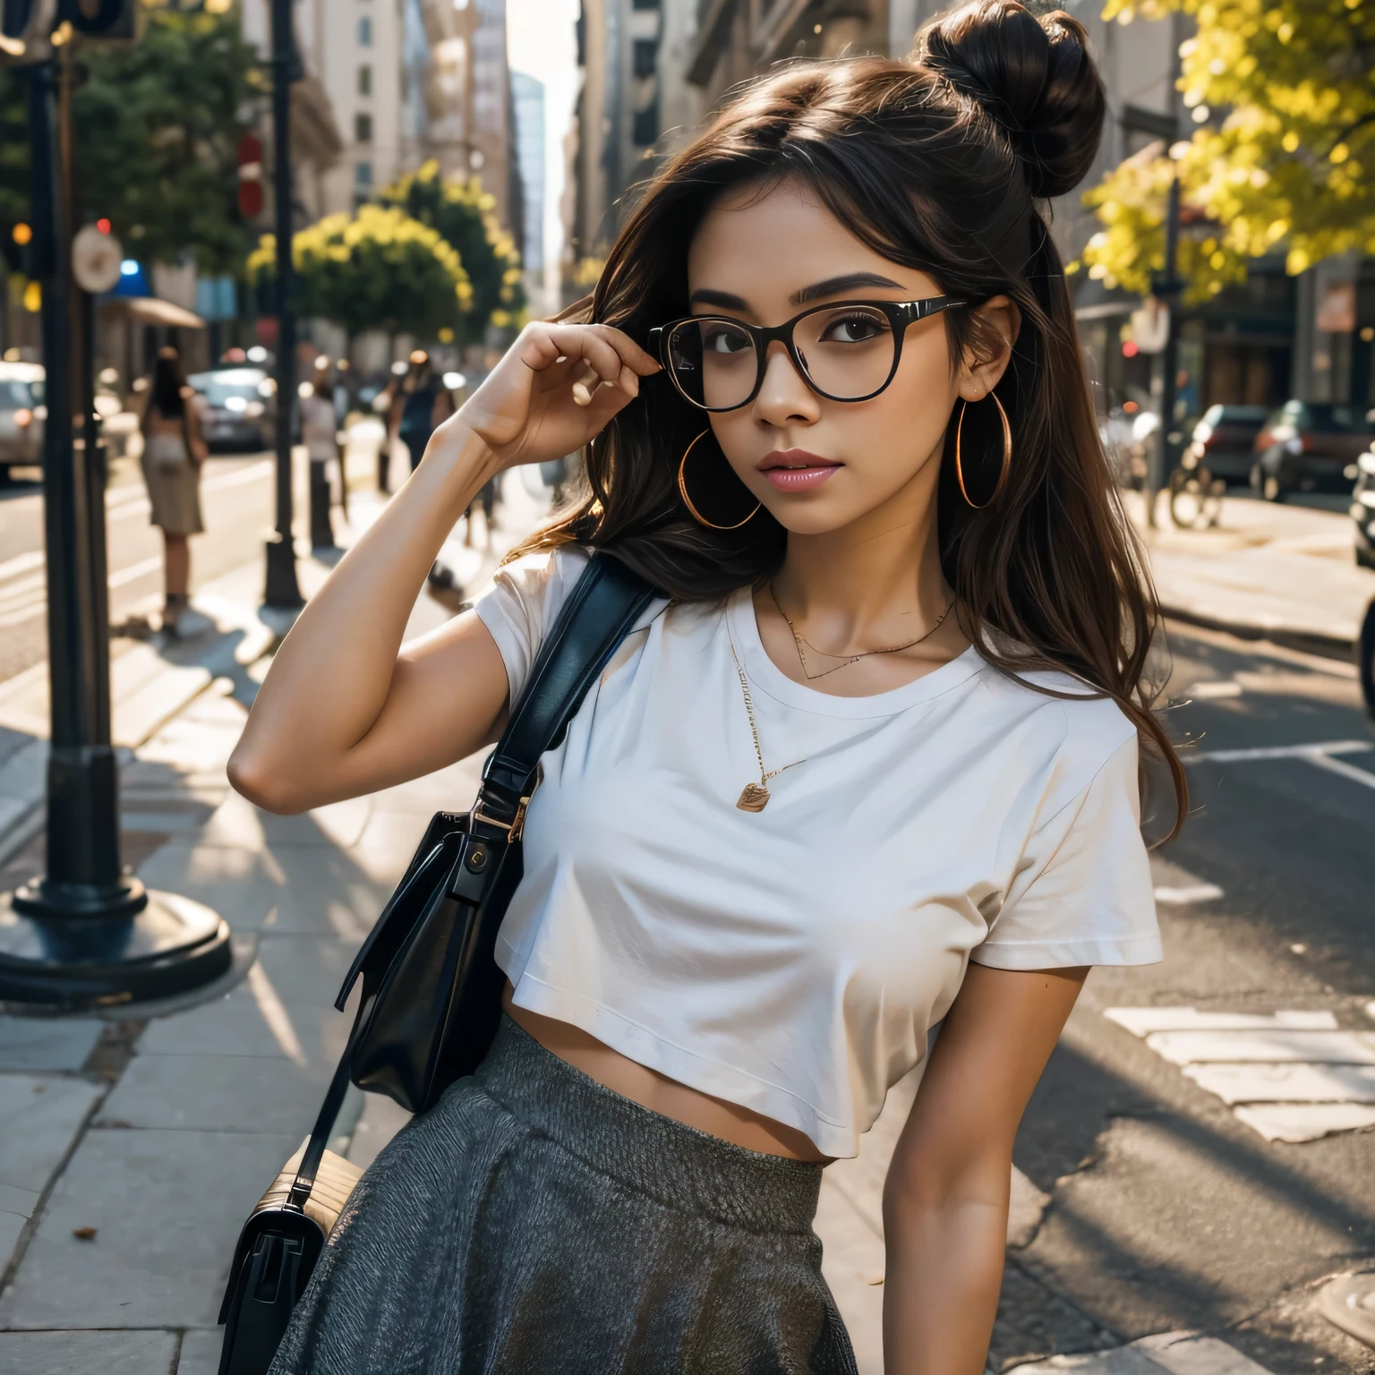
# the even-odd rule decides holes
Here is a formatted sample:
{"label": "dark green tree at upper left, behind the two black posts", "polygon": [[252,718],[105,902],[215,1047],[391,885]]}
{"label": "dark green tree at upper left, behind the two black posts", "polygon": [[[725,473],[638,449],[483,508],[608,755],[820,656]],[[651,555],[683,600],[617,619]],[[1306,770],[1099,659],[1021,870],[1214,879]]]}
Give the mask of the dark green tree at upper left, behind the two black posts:
{"label": "dark green tree at upper left, behind the two black posts", "polygon": [[147,15],[138,43],[84,44],[72,102],[85,210],[144,260],[235,272],[253,230],[235,205],[243,116],[265,91],[235,14]]}

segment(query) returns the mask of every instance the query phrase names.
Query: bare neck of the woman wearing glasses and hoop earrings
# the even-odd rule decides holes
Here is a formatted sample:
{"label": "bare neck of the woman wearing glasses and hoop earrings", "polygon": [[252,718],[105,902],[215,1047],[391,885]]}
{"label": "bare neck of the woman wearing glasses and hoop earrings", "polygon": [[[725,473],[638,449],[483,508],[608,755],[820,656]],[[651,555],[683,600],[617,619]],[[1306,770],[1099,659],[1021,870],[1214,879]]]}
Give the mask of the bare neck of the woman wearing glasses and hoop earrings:
{"label": "bare neck of the woman wearing glasses and hoop earrings", "polygon": [[789,534],[773,586],[799,628],[806,622],[840,653],[935,624],[953,595],[940,572],[936,473],[938,465],[924,465],[883,506],[840,529]]}

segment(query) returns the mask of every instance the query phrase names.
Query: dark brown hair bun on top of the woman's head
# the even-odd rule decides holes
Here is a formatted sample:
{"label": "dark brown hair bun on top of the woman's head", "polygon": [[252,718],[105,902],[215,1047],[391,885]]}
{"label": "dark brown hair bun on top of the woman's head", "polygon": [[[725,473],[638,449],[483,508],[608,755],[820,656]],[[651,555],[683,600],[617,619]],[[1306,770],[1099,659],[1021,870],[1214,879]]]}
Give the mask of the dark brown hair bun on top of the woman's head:
{"label": "dark brown hair bun on top of the woman's head", "polygon": [[1084,180],[1106,98],[1078,19],[975,0],[924,29],[917,55],[1002,126],[1033,195],[1064,195]]}

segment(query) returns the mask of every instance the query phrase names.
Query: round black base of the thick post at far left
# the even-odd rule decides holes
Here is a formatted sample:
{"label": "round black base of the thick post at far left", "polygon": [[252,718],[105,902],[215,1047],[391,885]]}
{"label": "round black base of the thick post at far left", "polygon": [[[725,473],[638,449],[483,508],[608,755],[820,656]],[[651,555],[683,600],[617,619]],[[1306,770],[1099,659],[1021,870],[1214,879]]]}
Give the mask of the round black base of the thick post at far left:
{"label": "round black base of the thick post at far left", "polygon": [[231,962],[219,913],[138,879],[99,892],[34,880],[0,896],[0,1001],[143,1002],[209,983]]}

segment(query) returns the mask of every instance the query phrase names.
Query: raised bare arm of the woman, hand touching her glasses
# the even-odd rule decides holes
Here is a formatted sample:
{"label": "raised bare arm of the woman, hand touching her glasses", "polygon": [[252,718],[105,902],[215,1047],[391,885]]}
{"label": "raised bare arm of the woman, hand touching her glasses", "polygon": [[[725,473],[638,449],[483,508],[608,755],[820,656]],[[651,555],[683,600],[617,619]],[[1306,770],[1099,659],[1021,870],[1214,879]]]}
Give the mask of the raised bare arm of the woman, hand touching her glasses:
{"label": "raised bare arm of the woman, hand touching her glasses", "polygon": [[[521,333],[301,612],[230,759],[239,792],[304,811],[440,769],[494,737],[506,670],[474,615],[402,648],[425,575],[485,481],[580,448],[656,368],[605,326]],[[612,385],[580,406],[572,382],[593,374]]]}

